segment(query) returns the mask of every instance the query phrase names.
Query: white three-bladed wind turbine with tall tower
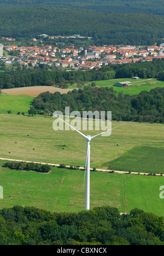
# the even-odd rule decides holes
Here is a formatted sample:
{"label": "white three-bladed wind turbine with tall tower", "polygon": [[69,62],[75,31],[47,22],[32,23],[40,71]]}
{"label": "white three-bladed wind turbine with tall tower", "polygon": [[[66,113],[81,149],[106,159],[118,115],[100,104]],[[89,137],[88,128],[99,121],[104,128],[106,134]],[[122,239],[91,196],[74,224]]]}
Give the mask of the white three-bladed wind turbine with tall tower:
{"label": "white three-bladed wind turbine with tall tower", "polygon": [[[48,109],[47,109],[48,110]],[[48,112],[50,112],[48,110]],[[52,115],[54,115],[55,117],[57,117],[57,115],[55,115],[54,113],[50,112]],[[60,119],[61,121],[63,121],[63,123],[69,125],[68,123],[66,123],[64,120],[62,120],[60,117],[57,117],[58,119]],[[134,119],[136,120],[136,119]],[[132,121],[134,121],[132,120]],[[132,121],[129,121],[125,124],[128,124],[128,123],[131,123]],[[78,131],[77,129],[75,129],[73,126],[69,125],[73,130],[77,131],[78,133],[80,133],[80,135],[82,135],[86,141],[87,141],[87,148],[86,148],[86,162],[85,162],[85,171],[86,171],[86,187],[85,187],[85,211],[87,210],[90,210],[90,142],[91,142],[91,139],[93,138],[96,138],[97,136],[99,135],[102,135],[103,133],[105,132],[108,132],[108,131],[111,131],[113,129],[116,129],[122,125],[125,125],[125,124],[121,124],[119,126],[116,126],[112,129],[109,129],[107,131],[104,131],[104,132],[101,132],[101,133],[98,133],[97,135],[95,136],[90,136],[90,135],[84,135],[82,132]]]}

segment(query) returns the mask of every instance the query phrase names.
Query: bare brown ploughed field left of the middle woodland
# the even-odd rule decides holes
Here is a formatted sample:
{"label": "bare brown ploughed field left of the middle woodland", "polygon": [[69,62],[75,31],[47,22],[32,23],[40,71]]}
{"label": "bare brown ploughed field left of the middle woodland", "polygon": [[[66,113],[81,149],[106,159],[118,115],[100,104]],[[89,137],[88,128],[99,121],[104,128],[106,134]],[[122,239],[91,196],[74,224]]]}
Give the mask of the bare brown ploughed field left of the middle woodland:
{"label": "bare brown ploughed field left of the middle woodland", "polygon": [[32,97],[37,97],[42,92],[49,91],[52,94],[58,91],[61,94],[67,94],[68,91],[72,91],[73,89],[61,89],[52,86],[31,86],[31,87],[21,87],[21,88],[11,88],[11,89],[3,89],[2,92],[4,94],[9,95],[28,95]]}

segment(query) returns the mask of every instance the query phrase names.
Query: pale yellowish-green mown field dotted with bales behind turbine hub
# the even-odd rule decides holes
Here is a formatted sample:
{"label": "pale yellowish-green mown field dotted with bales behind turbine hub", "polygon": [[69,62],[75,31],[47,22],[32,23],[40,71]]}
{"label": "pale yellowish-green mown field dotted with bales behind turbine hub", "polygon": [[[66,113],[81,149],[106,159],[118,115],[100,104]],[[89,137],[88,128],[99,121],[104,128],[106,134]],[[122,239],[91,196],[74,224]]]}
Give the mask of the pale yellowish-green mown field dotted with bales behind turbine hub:
{"label": "pale yellowish-green mown field dotted with bales behind turbine hub", "polygon": [[[54,131],[54,118],[0,114],[1,158],[85,165],[86,141],[77,132]],[[125,122],[113,121],[112,127]],[[163,124],[130,123],[112,131],[109,137],[91,141],[91,167],[107,167],[136,146],[163,148]],[[30,136],[27,134],[30,133]],[[96,135],[99,131],[84,131]],[[17,141],[17,144],[15,144]],[[117,144],[120,146],[116,146]],[[65,147],[65,150],[62,148]],[[36,150],[32,150],[36,148]],[[11,151],[11,154],[9,154]]]}

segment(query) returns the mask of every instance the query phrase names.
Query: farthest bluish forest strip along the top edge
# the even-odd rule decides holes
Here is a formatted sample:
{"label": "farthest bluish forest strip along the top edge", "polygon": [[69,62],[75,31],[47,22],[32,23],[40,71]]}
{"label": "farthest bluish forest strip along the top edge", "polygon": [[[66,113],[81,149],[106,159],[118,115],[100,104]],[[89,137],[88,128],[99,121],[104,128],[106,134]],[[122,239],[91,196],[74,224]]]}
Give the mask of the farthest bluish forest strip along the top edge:
{"label": "farthest bluish forest strip along the top edge", "polygon": [[36,6],[79,8],[107,12],[164,14],[162,0],[0,0],[0,7]]}

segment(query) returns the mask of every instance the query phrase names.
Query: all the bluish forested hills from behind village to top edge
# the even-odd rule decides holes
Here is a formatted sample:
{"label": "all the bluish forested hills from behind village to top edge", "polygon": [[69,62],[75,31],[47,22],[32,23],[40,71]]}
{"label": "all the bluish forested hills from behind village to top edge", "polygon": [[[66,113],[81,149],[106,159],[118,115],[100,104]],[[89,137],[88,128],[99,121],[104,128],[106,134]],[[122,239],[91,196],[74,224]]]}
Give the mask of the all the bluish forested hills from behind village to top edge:
{"label": "all the bluish forested hills from behind village to top edge", "polygon": [[95,44],[153,45],[164,38],[162,1],[0,0],[0,36],[80,34]]}

